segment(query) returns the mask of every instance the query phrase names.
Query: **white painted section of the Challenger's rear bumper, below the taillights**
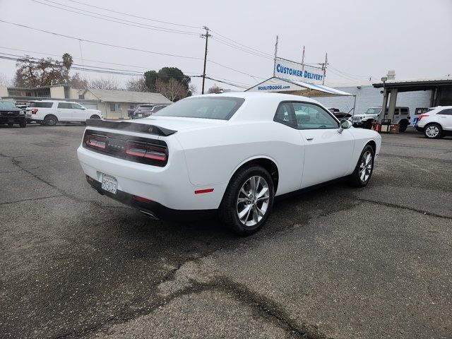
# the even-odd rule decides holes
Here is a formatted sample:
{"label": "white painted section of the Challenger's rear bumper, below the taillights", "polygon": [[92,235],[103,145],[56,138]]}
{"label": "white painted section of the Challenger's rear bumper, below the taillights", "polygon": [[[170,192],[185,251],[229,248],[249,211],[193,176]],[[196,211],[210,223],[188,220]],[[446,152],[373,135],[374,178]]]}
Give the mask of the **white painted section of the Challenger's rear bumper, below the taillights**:
{"label": "white painted section of the Challenger's rear bumper, below the taillights", "polygon": [[[117,179],[117,190],[141,196],[169,210],[215,210],[220,206],[225,184],[194,185],[190,182],[184,153],[172,147],[165,167],[145,165],[95,153],[80,146],[78,160],[83,172],[101,184],[103,174]],[[92,184],[90,182],[90,184]],[[97,185],[96,184],[96,185]],[[91,185],[93,186],[93,184]],[[205,194],[195,191],[213,189]],[[111,196],[105,192],[105,195]],[[121,194],[120,194],[121,196]],[[117,195],[111,196],[117,200]]]}

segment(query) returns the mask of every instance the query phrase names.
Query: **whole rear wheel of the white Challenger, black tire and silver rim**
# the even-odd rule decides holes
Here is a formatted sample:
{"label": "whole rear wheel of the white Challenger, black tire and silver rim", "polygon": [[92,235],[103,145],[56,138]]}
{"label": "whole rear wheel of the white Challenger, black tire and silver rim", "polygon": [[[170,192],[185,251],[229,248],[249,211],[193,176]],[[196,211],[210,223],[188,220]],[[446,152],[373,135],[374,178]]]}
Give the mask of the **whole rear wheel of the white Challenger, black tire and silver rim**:
{"label": "whole rear wheel of the white Challenger, black tire and silver rim", "polygon": [[235,233],[246,236],[257,232],[273,207],[273,180],[258,165],[242,167],[227,185],[220,205],[220,218]]}

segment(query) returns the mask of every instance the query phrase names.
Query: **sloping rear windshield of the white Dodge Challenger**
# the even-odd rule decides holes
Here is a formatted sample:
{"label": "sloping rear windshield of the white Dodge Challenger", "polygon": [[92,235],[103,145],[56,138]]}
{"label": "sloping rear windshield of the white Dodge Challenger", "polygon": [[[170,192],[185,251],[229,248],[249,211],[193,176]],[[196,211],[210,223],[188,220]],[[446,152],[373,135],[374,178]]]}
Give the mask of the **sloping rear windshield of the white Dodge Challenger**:
{"label": "sloping rear windshield of the white Dodge Challenger", "polygon": [[229,120],[245,100],[239,97],[193,97],[169,105],[153,117]]}

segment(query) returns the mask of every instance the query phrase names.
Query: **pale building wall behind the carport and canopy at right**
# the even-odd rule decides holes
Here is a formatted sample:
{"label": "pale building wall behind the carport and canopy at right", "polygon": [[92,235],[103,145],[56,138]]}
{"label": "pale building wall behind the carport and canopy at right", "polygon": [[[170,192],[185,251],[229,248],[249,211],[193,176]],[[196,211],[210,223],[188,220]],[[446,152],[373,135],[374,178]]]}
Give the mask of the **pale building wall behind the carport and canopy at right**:
{"label": "pale building wall behind the carport and canopy at right", "polygon": [[[374,88],[371,85],[363,85],[360,88],[340,87],[347,93],[356,94],[356,114],[365,112],[369,107],[381,107],[383,105],[383,94],[381,88]],[[431,90],[421,90],[416,92],[398,93],[397,106],[410,107],[410,114],[415,114],[417,107],[429,107]],[[338,107],[342,112],[349,112],[353,108],[354,97],[314,97],[326,107]]]}

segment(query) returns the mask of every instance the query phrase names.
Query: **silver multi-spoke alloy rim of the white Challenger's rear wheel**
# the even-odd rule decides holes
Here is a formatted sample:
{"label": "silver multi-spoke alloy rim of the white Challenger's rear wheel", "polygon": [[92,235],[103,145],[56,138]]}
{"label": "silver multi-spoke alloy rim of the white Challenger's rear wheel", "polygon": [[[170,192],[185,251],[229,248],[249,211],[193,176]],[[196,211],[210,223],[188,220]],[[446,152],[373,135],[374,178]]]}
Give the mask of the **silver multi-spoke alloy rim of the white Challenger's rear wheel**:
{"label": "silver multi-spoke alloy rim of the white Challenger's rear wheel", "polygon": [[237,196],[237,217],[244,226],[253,227],[262,220],[270,203],[270,189],[263,177],[246,180]]}

